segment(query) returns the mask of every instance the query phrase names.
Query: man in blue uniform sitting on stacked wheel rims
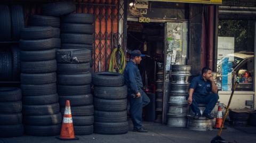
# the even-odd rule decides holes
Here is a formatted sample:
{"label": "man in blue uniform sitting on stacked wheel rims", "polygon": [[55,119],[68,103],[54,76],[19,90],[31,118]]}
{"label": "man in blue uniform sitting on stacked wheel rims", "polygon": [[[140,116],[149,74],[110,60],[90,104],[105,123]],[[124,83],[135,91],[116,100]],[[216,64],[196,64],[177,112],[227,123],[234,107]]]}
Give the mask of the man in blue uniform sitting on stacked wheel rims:
{"label": "man in blue uniform sitting on stacked wheel rims", "polygon": [[213,119],[211,112],[218,102],[218,88],[212,77],[210,68],[203,68],[202,75],[193,78],[189,87],[188,104],[195,113],[195,119],[202,116],[198,108],[198,104],[206,104],[203,116],[208,119]]}

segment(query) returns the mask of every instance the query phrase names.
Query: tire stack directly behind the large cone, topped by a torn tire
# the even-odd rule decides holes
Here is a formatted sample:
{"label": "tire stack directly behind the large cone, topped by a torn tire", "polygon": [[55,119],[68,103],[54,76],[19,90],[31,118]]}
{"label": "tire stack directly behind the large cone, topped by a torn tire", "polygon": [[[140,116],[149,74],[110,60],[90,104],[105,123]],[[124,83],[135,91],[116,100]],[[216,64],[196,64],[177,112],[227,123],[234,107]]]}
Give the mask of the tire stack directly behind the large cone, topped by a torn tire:
{"label": "tire stack directly behind the large cone, topped by a torn tire", "polygon": [[93,133],[91,51],[88,49],[59,49],[58,94],[62,114],[66,100],[70,100],[74,130],[77,135]]}

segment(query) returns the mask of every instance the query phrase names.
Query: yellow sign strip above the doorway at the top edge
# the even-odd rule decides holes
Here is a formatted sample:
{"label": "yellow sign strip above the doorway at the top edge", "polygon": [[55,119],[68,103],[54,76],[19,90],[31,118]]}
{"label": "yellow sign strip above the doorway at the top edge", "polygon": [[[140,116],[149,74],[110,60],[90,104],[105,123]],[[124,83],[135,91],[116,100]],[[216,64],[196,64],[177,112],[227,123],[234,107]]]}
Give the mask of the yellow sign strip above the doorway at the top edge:
{"label": "yellow sign strip above the doorway at the top edge", "polygon": [[201,4],[222,4],[222,0],[148,0],[158,2],[177,2],[177,3],[201,3]]}

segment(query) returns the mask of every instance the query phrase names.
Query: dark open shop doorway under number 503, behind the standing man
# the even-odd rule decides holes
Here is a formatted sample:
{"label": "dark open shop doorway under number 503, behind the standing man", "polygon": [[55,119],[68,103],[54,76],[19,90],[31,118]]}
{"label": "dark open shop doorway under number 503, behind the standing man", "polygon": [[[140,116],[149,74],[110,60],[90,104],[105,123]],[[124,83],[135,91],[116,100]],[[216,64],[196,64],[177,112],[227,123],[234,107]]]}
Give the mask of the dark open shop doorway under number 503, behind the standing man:
{"label": "dark open shop doorway under number 503, behind the standing man", "polygon": [[128,59],[134,49],[146,55],[138,65],[143,89],[151,100],[143,112],[144,119],[162,123],[165,23],[127,21],[127,27]]}

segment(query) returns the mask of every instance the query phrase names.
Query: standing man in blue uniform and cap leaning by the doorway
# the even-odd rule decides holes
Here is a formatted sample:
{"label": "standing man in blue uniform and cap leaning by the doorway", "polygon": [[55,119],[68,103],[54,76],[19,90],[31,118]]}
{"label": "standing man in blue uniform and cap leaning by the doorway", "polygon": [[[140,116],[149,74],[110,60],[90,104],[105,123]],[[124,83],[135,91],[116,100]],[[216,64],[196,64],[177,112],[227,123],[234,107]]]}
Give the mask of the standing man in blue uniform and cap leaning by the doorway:
{"label": "standing man in blue uniform and cap leaning by the doorway", "polygon": [[125,84],[128,87],[128,97],[130,99],[130,112],[133,122],[134,132],[148,132],[142,128],[142,108],[149,104],[150,99],[142,90],[143,83],[137,64],[140,64],[141,52],[134,50],[131,53],[131,60],[126,64],[124,70]]}

